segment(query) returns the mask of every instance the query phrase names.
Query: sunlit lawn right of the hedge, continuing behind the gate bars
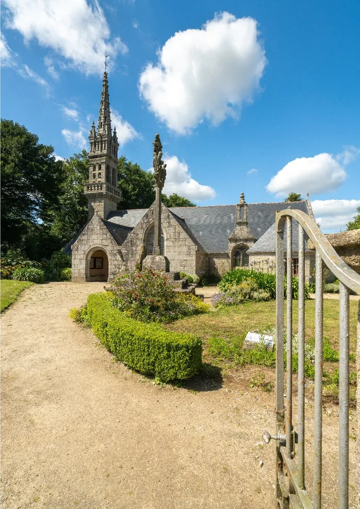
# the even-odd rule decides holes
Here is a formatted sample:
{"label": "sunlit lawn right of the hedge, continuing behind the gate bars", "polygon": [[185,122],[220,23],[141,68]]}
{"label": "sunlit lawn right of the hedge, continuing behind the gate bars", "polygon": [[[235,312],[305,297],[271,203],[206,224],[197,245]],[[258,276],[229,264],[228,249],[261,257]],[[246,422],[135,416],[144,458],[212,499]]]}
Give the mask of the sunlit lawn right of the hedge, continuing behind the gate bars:
{"label": "sunlit lawn right of the hedge, continuing behind the gate bars", "polygon": [[[286,306],[286,303],[284,303]],[[356,322],[358,301],[350,301],[350,351],[356,351]],[[285,312],[286,314],[286,312]],[[297,333],[298,301],[293,301],[293,333]],[[243,339],[248,331],[275,328],[275,300],[251,302],[241,306],[229,306],[222,311],[196,315],[177,320],[168,325],[174,331],[199,334],[205,347],[208,339],[220,336],[229,339]],[[331,346],[338,350],[339,301],[324,299],[323,335],[328,337]],[[305,336],[315,336],[315,300],[305,301]]]}

